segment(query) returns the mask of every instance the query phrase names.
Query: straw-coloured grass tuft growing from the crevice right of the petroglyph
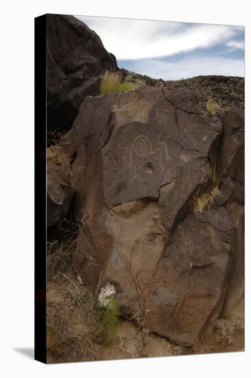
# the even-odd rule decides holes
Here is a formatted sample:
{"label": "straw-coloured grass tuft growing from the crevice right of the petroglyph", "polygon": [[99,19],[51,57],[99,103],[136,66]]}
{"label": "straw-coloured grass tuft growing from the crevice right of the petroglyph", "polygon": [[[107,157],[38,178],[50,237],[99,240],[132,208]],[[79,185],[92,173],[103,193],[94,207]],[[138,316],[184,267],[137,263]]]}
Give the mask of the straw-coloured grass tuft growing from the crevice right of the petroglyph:
{"label": "straw-coloured grass tuft growing from the crevice right of the petroglyph", "polygon": [[219,183],[221,180],[217,179],[215,166],[211,168],[210,181],[210,189],[204,192],[200,188],[192,199],[191,207],[193,209],[193,214],[196,216],[200,216],[203,212],[208,211],[221,194],[219,190]]}

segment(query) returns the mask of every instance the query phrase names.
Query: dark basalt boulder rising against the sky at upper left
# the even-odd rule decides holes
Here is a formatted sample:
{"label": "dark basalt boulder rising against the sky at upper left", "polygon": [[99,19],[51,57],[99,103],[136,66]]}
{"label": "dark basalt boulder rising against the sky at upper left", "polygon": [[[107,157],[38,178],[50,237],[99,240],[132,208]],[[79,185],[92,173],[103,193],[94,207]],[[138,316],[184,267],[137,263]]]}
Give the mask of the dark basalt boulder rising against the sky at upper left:
{"label": "dark basalt boulder rising against the sky at upper left", "polygon": [[85,96],[99,94],[99,75],[117,69],[99,36],[73,16],[47,15],[47,131],[68,131]]}

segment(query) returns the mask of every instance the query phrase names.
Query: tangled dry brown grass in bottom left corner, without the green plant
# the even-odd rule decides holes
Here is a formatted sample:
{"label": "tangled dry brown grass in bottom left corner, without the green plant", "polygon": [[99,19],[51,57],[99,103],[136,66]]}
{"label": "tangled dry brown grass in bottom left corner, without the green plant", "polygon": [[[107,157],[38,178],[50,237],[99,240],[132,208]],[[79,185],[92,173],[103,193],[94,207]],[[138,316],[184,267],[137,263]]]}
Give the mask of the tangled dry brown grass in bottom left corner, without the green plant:
{"label": "tangled dry brown grass in bottom left corner, without the green plant", "polygon": [[99,359],[93,333],[99,318],[91,289],[61,274],[47,290],[47,353],[49,362]]}

